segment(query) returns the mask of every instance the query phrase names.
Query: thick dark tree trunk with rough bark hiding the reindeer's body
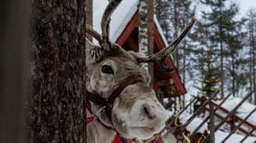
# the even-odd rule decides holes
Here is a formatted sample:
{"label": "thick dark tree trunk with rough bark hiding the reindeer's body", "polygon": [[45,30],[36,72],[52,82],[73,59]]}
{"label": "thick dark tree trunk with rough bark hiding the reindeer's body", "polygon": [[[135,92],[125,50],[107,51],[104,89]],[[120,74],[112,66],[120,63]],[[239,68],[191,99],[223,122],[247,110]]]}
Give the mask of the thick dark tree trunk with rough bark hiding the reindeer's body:
{"label": "thick dark tree trunk with rough bark hiding the reindeer's body", "polygon": [[84,142],[85,1],[32,3],[30,142]]}

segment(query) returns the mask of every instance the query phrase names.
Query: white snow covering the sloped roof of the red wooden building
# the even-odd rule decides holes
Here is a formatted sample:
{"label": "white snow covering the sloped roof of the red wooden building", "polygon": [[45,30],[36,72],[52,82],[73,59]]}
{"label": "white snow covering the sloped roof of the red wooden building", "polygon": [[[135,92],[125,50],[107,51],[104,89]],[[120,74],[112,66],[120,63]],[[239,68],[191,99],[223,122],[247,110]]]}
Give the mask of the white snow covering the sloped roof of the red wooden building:
{"label": "white snow covering the sloped roof of the red wooden building", "polygon": [[[108,0],[94,0],[93,1],[93,29],[102,33],[101,20],[104,14],[105,7],[108,4]],[[110,33],[109,38],[111,41],[116,42],[122,32],[126,29],[128,22],[138,10],[138,0],[123,0],[118,8],[114,10],[110,21]],[[164,44],[168,46],[167,40],[164,37],[163,31],[158,23],[158,20],[154,16],[154,23],[157,30],[160,32]]]}

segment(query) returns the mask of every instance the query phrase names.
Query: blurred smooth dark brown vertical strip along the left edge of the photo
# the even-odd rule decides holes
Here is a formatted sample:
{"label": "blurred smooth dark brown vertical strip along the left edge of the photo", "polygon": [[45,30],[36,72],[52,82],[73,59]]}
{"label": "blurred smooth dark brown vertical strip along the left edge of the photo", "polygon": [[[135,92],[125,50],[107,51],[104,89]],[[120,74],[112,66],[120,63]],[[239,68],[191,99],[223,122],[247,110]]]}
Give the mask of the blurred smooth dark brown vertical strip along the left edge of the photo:
{"label": "blurred smooth dark brown vertical strip along the left edge of the photo", "polygon": [[0,1],[0,141],[24,142],[28,94],[29,0]]}

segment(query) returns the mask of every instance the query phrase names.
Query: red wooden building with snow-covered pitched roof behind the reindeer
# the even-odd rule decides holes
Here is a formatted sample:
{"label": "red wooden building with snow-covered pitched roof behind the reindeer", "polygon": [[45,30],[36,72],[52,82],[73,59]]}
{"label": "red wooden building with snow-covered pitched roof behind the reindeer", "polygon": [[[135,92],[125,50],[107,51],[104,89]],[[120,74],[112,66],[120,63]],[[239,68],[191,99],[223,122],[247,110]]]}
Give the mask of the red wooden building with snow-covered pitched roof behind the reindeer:
{"label": "red wooden building with snow-covered pitched roof behind the reindeer", "polygon": [[[107,3],[107,0],[93,1],[93,29],[100,33],[100,23]],[[157,52],[168,44],[156,17],[153,21],[153,51]],[[127,51],[138,51],[138,0],[123,1],[113,12],[109,38]],[[175,69],[171,55],[166,58],[165,63]],[[153,88],[161,91],[165,97],[183,95],[186,92],[176,69],[174,72],[162,72],[156,64],[153,66]]]}

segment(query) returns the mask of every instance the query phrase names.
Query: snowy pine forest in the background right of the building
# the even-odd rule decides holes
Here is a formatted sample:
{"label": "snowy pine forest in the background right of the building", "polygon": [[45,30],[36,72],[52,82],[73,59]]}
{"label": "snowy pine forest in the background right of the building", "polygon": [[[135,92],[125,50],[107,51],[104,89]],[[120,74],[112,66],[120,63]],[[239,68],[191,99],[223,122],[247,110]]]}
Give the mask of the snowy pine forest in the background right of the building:
{"label": "snowy pine forest in the background right of the building", "polygon": [[[188,93],[203,95],[220,89],[222,98],[228,93],[256,92],[255,9],[240,11],[229,0],[155,0],[154,13],[168,42],[192,17],[198,19],[174,54]],[[256,104],[255,97],[254,93],[251,103]]]}

